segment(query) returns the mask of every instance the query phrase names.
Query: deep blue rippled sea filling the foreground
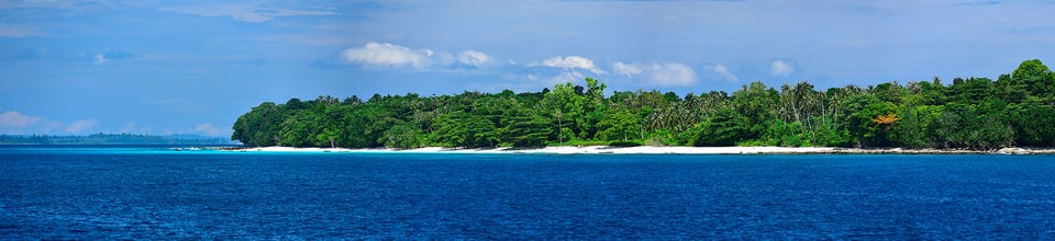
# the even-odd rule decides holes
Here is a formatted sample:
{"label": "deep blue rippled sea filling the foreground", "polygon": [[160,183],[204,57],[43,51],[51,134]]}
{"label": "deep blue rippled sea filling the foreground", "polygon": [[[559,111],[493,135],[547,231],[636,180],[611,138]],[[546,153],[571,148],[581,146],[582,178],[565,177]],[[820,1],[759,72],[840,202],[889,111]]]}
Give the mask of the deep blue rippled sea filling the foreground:
{"label": "deep blue rippled sea filling the foreground", "polygon": [[1055,239],[1053,156],[0,148],[0,239]]}

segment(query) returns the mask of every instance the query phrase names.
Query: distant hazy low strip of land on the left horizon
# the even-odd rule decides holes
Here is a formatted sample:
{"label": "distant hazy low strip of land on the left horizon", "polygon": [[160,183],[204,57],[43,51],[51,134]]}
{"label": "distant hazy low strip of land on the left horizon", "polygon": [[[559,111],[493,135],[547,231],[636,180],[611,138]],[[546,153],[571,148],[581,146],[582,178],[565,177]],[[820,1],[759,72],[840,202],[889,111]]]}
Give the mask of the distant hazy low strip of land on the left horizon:
{"label": "distant hazy low strip of land on the left horizon", "polygon": [[0,135],[2,145],[190,145],[229,146],[236,145],[225,138],[196,135],[133,135],[133,134],[92,134],[88,136],[48,136],[48,135]]}

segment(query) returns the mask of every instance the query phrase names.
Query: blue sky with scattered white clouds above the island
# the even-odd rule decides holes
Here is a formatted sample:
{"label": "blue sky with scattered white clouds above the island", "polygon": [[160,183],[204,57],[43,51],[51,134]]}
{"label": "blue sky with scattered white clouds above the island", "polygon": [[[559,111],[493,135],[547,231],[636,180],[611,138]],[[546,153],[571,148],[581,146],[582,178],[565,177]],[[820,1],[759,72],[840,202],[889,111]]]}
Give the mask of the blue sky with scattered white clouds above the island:
{"label": "blue sky with scattered white clouds above the island", "polygon": [[[230,136],[262,102],[996,79],[1055,0],[0,0],[0,134]],[[946,81],[951,82],[951,81]]]}

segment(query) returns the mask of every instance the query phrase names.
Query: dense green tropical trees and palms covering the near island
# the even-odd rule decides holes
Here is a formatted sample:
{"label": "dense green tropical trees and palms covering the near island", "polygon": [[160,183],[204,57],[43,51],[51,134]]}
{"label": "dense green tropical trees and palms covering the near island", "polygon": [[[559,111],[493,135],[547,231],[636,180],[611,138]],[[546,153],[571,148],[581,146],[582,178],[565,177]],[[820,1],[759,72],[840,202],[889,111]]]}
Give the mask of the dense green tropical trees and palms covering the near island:
{"label": "dense green tropical trees and palms covering the near island", "polygon": [[557,145],[1055,147],[1055,73],[1022,62],[996,81],[897,81],[815,90],[752,82],[732,94],[615,91],[586,78],[534,93],[291,99],[234,123],[247,146],[418,148]]}

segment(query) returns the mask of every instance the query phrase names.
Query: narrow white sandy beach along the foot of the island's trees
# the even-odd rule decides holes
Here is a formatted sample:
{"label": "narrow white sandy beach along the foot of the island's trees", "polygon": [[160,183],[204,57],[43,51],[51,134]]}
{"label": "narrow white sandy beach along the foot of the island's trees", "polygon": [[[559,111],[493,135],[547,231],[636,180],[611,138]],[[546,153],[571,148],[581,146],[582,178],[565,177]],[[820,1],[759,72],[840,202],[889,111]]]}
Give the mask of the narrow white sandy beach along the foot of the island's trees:
{"label": "narrow white sandy beach along the foot of the island's trees", "polygon": [[417,149],[347,149],[253,147],[226,149],[233,152],[345,152],[345,153],[462,153],[462,154],[1055,154],[1055,149],[1003,148],[999,150],[833,148],[833,147],[545,147],[536,149],[465,149],[426,147]]}

